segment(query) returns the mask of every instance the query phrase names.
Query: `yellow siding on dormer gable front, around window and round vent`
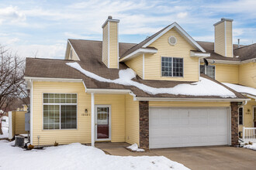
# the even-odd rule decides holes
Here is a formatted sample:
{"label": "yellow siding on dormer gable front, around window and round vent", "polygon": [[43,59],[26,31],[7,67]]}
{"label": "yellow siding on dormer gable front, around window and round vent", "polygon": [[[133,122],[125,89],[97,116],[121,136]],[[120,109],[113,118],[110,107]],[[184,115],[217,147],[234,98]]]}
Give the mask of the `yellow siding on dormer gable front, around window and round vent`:
{"label": "yellow siding on dormer gable front, around window and round vent", "polygon": [[[177,43],[171,46],[168,38],[175,36]],[[199,80],[199,59],[190,57],[190,50],[195,50],[175,29],[170,29],[150,46],[158,51],[155,54],[145,54],[144,79],[145,80]],[[161,76],[161,56],[183,58],[184,77]]]}

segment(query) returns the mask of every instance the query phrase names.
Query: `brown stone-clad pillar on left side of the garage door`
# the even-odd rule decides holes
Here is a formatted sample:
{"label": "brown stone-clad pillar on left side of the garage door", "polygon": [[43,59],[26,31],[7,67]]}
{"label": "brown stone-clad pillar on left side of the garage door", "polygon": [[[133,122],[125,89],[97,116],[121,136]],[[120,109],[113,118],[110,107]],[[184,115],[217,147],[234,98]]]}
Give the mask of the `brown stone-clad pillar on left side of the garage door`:
{"label": "brown stone-clad pillar on left side of the garage door", "polygon": [[140,148],[149,148],[149,104],[148,101],[139,102],[140,111]]}

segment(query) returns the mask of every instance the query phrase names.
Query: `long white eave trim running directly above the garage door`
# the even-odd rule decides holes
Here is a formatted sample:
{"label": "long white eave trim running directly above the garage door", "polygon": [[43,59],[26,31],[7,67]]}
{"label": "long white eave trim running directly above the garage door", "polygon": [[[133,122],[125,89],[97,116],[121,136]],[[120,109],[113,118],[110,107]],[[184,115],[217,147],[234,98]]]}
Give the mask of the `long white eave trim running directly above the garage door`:
{"label": "long white eave trim running directly above the garage door", "polygon": [[250,99],[230,99],[230,98],[164,98],[164,97],[135,97],[139,101],[202,101],[202,102],[227,102],[227,101],[237,101],[241,102]]}

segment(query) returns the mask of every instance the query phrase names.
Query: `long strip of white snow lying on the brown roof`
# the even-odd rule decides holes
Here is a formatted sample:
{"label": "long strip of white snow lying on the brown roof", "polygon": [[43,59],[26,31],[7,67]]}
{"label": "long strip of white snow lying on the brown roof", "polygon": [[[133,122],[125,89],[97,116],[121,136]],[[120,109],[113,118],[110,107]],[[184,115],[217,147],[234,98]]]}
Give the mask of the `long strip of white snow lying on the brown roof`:
{"label": "long strip of white snow lying on the brown roof", "polygon": [[195,83],[183,83],[178,84],[175,87],[169,88],[155,88],[144,85],[143,83],[137,83],[132,79],[136,76],[136,73],[132,69],[119,70],[119,79],[110,80],[102,76],[98,76],[95,73],[91,73],[87,70],[81,68],[78,63],[66,63],[68,66],[73,67],[74,69],[84,73],[85,76],[88,76],[92,79],[106,82],[106,83],[118,83],[124,86],[133,86],[137,87],[140,90],[143,90],[146,93],[158,94],[158,93],[168,93],[168,94],[181,94],[189,96],[220,96],[220,97],[236,97],[236,95],[227,90],[227,88],[222,85],[215,83],[206,78],[200,77],[199,82]]}

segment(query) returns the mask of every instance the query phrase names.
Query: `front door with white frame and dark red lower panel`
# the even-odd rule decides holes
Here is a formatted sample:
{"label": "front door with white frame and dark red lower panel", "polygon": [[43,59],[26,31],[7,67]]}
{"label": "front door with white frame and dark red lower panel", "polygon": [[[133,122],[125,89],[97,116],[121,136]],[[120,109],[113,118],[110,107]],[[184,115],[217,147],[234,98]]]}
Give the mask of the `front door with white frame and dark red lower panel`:
{"label": "front door with white frame and dark red lower panel", "polygon": [[95,106],[95,140],[110,141],[111,140],[111,107],[109,105]]}

